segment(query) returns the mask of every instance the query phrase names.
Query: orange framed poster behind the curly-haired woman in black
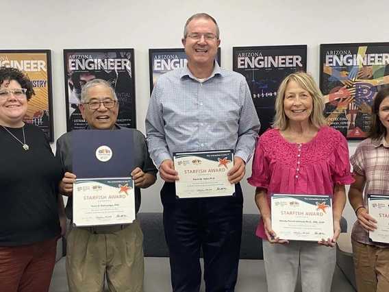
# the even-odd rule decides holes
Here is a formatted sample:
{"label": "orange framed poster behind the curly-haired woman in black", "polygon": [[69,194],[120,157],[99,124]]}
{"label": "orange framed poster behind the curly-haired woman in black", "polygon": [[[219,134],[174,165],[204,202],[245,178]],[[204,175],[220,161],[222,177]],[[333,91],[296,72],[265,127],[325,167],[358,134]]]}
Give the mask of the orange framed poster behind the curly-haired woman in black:
{"label": "orange framed poster behind the curly-haired woman in black", "polygon": [[50,50],[1,50],[0,66],[24,71],[34,86],[23,121],[40,127],[50,142],[53,134],[53,95],[51,91]]}

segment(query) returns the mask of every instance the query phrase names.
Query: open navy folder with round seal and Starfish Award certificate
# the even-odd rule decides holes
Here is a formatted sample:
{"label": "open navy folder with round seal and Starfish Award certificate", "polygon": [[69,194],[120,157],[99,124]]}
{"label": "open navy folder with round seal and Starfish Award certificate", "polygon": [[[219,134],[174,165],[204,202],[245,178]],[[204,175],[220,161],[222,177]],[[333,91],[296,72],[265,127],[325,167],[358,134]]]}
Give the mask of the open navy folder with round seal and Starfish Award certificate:
{"label": "open navy folder with round seal and Starfish Award certificate", "polygon": [[73,224],[133,223],[134,135],[129,130],[73,130]]}

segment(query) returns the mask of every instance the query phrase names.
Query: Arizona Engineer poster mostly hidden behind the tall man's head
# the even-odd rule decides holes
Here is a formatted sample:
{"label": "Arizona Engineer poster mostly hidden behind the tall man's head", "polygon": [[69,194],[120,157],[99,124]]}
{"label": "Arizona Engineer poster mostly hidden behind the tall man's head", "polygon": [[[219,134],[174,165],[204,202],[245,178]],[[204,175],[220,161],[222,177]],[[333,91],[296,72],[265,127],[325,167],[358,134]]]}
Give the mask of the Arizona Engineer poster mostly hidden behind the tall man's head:
{"label": "Arizona Engineer poster mostly hidden behind the tall man's head", "polygon": [[[218,48],[216,62],[221,64],[221,48]],[[188,63],[184,48],[182,49],[149,49],[150,94],[160,75],[182,68]]]}

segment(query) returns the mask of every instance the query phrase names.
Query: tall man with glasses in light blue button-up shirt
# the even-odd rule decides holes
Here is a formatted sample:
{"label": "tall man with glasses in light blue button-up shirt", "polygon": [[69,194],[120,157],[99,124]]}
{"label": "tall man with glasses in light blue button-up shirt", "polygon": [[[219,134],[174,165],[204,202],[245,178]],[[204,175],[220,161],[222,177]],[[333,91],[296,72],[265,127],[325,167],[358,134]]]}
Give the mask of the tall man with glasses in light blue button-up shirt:
{"label": "tall man with glasses in light blue button-up shirt", "polygon": [[[243,197],[240,180],[253,155],[260,123],[249,86],[215,62],[216,21],[194,14],[182,44],[188,65],[158,78],[146,117],[147,144],[165,184],[161,190],[173,292],[198,292],[200,250],[207,292],[234,291],[238,276]],[[173,152],[234,149],[227,173],[232,197],[176,199]]]}

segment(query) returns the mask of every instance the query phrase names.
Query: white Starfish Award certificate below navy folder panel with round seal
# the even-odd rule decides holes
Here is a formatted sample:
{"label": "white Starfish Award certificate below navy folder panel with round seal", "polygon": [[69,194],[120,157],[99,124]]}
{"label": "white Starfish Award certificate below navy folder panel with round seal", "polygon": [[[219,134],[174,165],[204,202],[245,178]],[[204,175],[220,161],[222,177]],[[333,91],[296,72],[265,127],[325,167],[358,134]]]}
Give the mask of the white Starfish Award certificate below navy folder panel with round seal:
{"label": "white Starfish Award certificate below navy folder panel with round seal", "polygon": [[73,184],[75,226],[126,224],[135,218],[131,178],[77,179]]}

